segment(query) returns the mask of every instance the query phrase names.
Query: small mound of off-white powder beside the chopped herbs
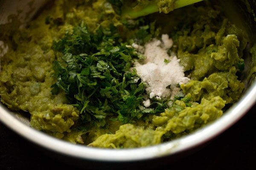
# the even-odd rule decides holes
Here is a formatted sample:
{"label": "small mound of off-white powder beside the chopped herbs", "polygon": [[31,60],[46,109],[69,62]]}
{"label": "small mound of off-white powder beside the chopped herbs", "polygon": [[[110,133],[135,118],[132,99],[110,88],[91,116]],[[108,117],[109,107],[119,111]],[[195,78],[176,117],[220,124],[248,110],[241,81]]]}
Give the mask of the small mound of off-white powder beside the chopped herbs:
{"label": "small mound of off-white powder beside the chopped herbs", "polygon": [[[145,63],[134,63],[134,68],[143,82],[147,84],[146,92],[149,98],[157,99],[173,97],[178,91],[178,84],[187,83],[188,77],[185,77],[183,67],[179,64],[172,52],[169,56],[167,51],[172,47],[173,41],[167,34],[162,35],[162,40],[153,39],[145,44],[144,49],[137,44],[132,46],[139,52],[144,51],[146,57]],[[167,61],[167,62],[166,62]],[[145,107],[149,107],[150,101],[146,100]]]}

